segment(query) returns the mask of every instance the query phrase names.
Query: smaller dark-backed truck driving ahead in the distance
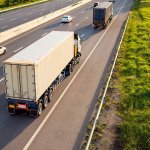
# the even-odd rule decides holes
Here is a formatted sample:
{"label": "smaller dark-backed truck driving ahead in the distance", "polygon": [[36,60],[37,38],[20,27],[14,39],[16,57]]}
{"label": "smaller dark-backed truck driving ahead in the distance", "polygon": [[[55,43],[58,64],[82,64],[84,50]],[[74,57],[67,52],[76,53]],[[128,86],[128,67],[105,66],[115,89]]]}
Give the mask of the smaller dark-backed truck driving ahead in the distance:
{"label": "smaller dark-backed truck driving ahead in the distance", "polygon": [[101,2],[93,8],[93,25],[94,28],[106,28],[113,17],[113,3]]}

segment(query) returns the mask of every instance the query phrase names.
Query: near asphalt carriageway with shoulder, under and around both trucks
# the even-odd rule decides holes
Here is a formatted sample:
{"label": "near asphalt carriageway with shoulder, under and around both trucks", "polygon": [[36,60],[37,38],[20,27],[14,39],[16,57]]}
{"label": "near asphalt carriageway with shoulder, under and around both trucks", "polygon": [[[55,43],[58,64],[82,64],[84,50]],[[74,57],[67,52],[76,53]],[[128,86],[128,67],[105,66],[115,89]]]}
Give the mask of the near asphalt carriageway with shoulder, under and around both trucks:
{"label": "near asphalt carriageway with shoulder, under and around both trucks", "polygon": [[[60,23],[60,16],[5,43],[8,52],[0,56],[0,149],[80,149],[131,5],[131,0],[116,0],[113,21],[105,30],[92,27],[92,2],[70,12],[73,21],[69,24]],[[5,100],[2,62],[52,30],[80,34],[84,40],[81,61],[54,91],[51,103],[40,117],[10,116]]]}

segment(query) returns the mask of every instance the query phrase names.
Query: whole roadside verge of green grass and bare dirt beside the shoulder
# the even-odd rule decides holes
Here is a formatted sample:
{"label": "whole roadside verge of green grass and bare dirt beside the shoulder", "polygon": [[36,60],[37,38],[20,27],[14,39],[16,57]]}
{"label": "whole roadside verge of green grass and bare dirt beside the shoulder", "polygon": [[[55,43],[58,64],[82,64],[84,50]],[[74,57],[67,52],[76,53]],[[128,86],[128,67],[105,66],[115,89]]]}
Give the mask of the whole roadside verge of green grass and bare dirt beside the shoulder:
{"label": "whole roadside verge of green grass and bare dirt beside the shoulder", "polygon": [[[150,0],[134,1],[90,150],[150,149],[149,11]],[[92,123],[82,149],[85,148],[91,128]]]}

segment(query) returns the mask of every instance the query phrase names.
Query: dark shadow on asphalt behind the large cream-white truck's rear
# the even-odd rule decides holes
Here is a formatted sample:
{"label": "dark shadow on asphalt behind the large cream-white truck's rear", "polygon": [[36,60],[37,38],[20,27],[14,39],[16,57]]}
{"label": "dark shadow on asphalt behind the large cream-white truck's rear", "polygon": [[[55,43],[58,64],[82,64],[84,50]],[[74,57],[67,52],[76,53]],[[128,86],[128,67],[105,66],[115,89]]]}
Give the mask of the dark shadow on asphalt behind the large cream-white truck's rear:
{"label": "dark shadow on asphalt behind the large cream-white truck's rear", "polygon": [[9,115],[7,111],[5,94],[4,93],[1,94],[0,95],[0,149],[3,149],[4,147],[6,148],[7,145],[8,147],[6,149],[13,149],[13,148],[15,149],[15,145],[12,144],[13,141],[15,141],[16,138],[18,138],[19,140],[19,135],[21,135],[21,133],[25,129],[27,129],[33,122],[35,122],[35,119],[36,118],[29,117],[24,113]]}

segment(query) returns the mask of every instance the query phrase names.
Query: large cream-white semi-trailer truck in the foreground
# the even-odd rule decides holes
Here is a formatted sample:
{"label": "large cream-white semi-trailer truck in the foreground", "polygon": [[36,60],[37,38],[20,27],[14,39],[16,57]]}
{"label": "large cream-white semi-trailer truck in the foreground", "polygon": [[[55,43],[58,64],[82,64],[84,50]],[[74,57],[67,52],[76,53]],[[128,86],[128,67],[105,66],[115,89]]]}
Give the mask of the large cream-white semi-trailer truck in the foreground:
{"label": "large cream-white semi-trailer truck in the foreground", "polygon": [[52,31],[4,61],[8,112],[25,110],[30,116],[39,116],[80,56],[78,34]]}

